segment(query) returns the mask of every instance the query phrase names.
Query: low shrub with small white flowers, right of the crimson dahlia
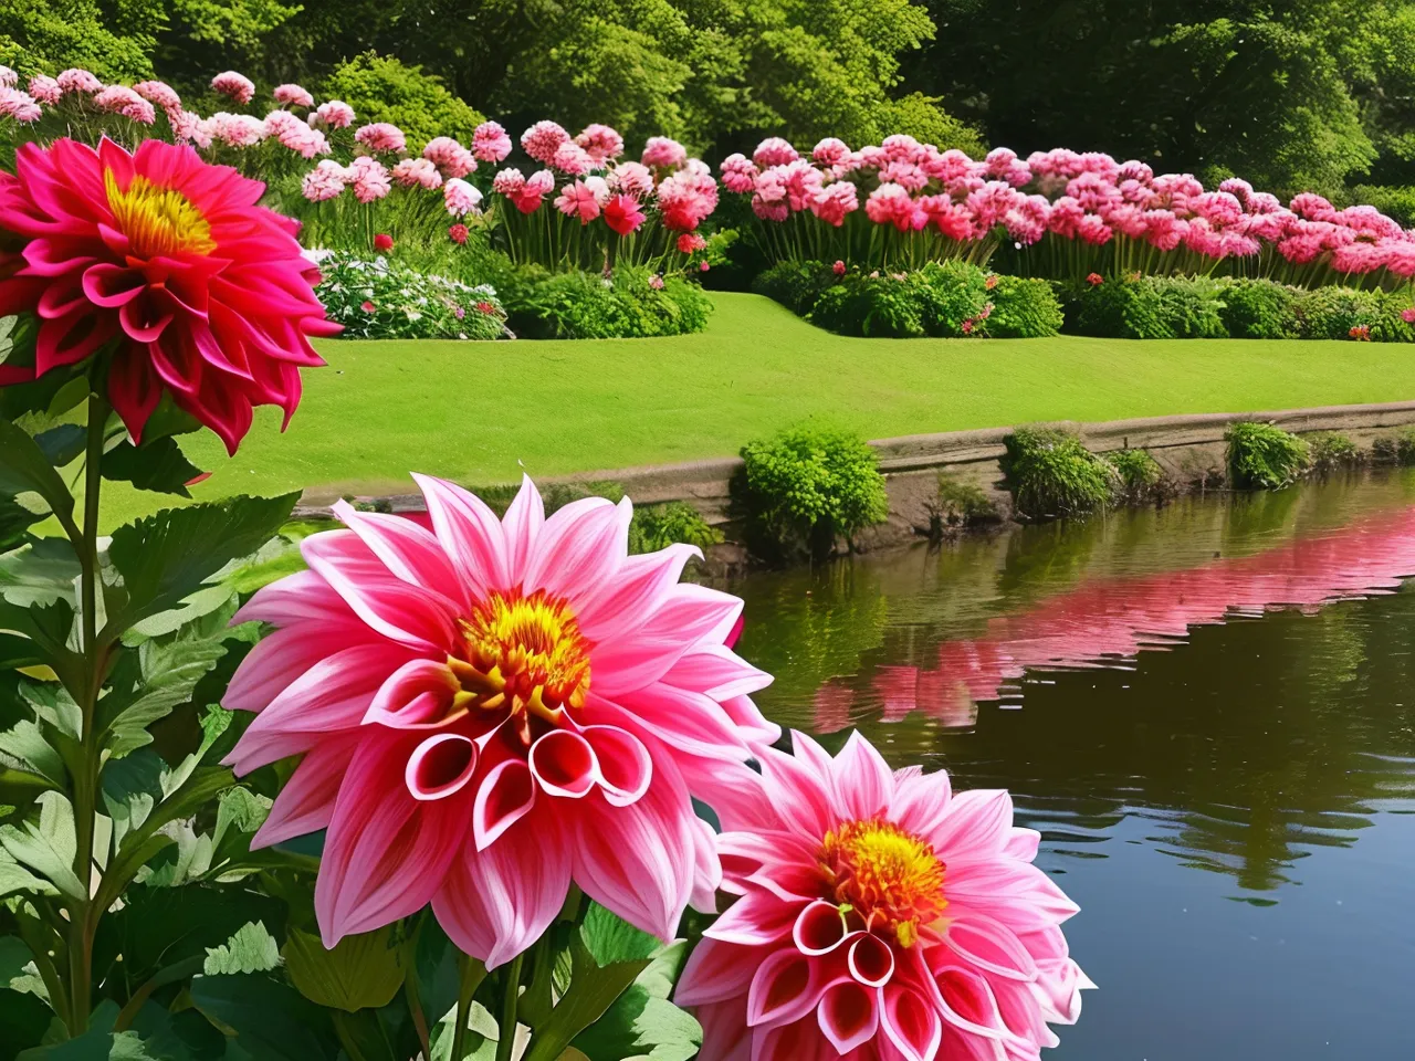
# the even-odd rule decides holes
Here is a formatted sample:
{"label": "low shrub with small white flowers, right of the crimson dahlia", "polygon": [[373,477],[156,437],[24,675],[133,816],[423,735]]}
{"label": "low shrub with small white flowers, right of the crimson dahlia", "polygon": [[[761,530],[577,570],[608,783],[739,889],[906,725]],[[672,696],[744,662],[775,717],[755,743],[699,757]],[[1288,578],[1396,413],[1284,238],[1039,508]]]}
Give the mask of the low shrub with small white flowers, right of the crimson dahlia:
{"label": "low shrub with small white flowers, right of the crimson dahlia", "polygon": [[318,256],[318,296],[344,335],[362,340],[497,340],[507,313],[490,284],[419,273],[396,259]]}

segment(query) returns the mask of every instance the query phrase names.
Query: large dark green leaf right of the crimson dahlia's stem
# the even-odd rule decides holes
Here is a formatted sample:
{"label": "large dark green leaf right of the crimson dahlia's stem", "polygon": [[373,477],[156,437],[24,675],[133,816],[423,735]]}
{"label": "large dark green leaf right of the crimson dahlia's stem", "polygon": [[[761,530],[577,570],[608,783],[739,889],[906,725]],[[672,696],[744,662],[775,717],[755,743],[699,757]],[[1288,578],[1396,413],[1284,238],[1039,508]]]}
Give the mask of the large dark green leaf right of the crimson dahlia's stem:
{"label": "large dark green leaf right of the crimson dahlia's stem", "polygon": [[127,603],[109,617],[108,625],[122,631],[177,607],[226,563],[253,553],[272,538],[290,518],[299,497],[238,497],[168,508],[119,528],[108,556],[123,576]]}

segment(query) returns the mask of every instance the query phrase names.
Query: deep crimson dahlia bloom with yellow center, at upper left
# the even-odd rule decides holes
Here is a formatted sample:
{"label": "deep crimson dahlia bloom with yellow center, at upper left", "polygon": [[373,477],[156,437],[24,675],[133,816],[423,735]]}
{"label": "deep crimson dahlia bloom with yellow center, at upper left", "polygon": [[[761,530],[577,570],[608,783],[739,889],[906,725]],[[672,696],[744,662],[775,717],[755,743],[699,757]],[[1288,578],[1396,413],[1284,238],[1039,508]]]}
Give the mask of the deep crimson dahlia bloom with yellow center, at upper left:
{"label": "deep crimson dahlia bloom with yellow center, at upper left", "polygon": [[[42,376],[110,349],[108,396],[129,433],[163,392],[236,451],[252,406],[300,403],[300,368],[331,335],[297,222],[258,202],[259,181],[208,166],[191,147],[144,140],[134,154],[57,140],[21,144],[0,173],[0,229],[28,240],[0,255],[0,315],[38,311]],[[3,260],[3,259],[8,260]]]}

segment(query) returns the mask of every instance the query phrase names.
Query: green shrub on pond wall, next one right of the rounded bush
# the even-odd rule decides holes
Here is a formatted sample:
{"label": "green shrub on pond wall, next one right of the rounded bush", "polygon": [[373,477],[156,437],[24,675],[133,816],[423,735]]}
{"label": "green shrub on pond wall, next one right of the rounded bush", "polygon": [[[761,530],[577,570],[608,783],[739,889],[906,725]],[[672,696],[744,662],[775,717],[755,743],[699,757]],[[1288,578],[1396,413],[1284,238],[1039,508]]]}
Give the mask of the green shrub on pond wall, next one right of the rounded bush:
{"label": "green shrub on pond wall, next one right of the rounded bush", "polygon": [[1029,519],[1092,512],[1109,504],[1119,485],[1116,470],[1070,431],[1019,427],[1005,446],[1013,505]]}

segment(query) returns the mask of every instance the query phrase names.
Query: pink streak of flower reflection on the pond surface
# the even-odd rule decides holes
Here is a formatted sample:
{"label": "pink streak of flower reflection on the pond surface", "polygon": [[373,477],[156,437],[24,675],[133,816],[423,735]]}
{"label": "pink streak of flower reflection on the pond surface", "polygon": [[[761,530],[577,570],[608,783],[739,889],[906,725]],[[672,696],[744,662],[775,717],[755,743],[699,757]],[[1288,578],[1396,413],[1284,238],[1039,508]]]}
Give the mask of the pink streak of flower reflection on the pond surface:
{"label": "pink streak of flower reflection on the pond surface", "polygon": [[[873,679],[883,721],[924,712],[972,726],[979,700],[1002,699],[1027,668],[1114,666],[1163,649],[1190,627],[1279,608],[1394,593],[1415,574],[1415,508],[1299,538],[1257,556],[1139,577],[1107,577],[988,622],[981,638],[945,641],[937,668],[882,666]],[[816,696],[821,731],[848,724],[838,679]],[[822,695],[824,699],[822,699]],[[843,705],[842,705],[843,700]]]}

